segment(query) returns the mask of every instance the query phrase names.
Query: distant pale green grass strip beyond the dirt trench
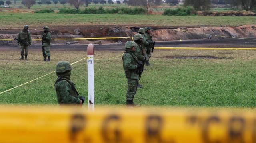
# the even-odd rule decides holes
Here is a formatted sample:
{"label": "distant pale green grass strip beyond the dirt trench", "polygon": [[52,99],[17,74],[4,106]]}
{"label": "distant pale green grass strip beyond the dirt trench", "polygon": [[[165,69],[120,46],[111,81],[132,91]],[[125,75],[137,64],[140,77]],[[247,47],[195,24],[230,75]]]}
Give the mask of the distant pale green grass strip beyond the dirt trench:
{"label": "distant pale green grass strip beyond the dirt trench", "polygon": [[[160,16],[118,14],[33,14],[0,12],[1,29],[75,25],[238,26],[256,25],[253,16]],[[125,21],[124,21],[125,20]]]}

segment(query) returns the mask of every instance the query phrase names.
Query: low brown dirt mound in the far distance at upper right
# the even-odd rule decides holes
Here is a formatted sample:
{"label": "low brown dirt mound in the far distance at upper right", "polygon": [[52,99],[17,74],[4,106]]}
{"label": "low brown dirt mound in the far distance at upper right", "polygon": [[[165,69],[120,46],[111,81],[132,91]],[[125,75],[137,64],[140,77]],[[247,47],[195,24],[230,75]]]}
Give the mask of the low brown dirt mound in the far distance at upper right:
{"label": "low brown dirt mound in the far distance at upper right", "polygon": [[250,11],[226,11],[226,12],[202,12],[198,11],[200,16],[256,16],[255,13]]}

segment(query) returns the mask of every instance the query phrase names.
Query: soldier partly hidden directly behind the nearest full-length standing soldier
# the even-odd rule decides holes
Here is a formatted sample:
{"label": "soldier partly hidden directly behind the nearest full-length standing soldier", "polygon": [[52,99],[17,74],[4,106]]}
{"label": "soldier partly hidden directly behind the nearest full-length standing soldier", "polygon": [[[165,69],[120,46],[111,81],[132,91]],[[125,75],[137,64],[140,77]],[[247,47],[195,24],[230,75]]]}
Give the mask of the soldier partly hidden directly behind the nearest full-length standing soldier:
{"label": "soldier partly hidden directly behind the nearest full-length standing soldier", "polygon": [[[141,74],[142,74],[142,72],[143,72],[144,63],[145,63],[145,61],[146,61],[146,58],[144,57],[144,55],[143,55],[143,53],[142,53],[142,51],[143,51],[143,48],[142,48],[142,46],[141,46],[141,45],[142,45],[142,42],[143,42],[142,40],[143,40],[143,37],[142,37],[141,34],[136,34],[136,35],[134,35],[134,41],[135,41],[135,43],[136,43],[135,55],[136,55],[137,59],[140,61],[140,63],[143,64],[141,70],[139,70],[139,72],[138,72],[139,77],[141,77]],[[142,88],[142,87],[143,87],[142,85],[140,85],[139,80],[138,80],[138,82],[137,82],[137,87],[139,87],[139,88]]]}

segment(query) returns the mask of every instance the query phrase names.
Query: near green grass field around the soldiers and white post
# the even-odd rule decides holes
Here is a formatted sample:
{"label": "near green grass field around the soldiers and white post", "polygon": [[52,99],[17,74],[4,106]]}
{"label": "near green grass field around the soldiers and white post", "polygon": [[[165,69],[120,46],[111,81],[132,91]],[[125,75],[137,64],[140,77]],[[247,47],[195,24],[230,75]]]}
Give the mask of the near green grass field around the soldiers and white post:
{"label": "near green grass field around the soldiers and white post", "polygon": [[[95,58],[108,58],[123,51],[96,51]],[[52,61],[42,61],[39,50],[30,50],[29,60],[18,60],[19,51],[0,53],[0,92],[54,71],[60,60],[75,62],[84,51],[52,50]],[[135,102],[166,106],[256,106],[256,51],[250,50],[155,50],[152,67],[146,67]],[[171,56],[171,57],[170,57]],[[219,59],[173,57],[215,56]],[[73,65],[71,79],[78,92],[87,95],[86,61]],[[95,61],[95,100],[98,104],[125,104],[127,82],[121,57]],[[3,104],[57,104],[56,75],[0,95]]]}

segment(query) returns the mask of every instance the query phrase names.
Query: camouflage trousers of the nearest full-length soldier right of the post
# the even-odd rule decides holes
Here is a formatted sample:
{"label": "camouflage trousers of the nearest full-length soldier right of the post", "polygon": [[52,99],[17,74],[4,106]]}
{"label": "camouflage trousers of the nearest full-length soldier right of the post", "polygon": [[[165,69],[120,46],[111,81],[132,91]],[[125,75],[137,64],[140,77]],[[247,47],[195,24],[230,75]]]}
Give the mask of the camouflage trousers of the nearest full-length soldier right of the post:
{"label": "camouflage trousers of the nearest full-length soldier right of the post", "polygon": [[134,95],[137,92],[137,81],[136,79],[130,79],[127,78],[128,80],[128,90],[126,93],[126,100],[133,100]]}

